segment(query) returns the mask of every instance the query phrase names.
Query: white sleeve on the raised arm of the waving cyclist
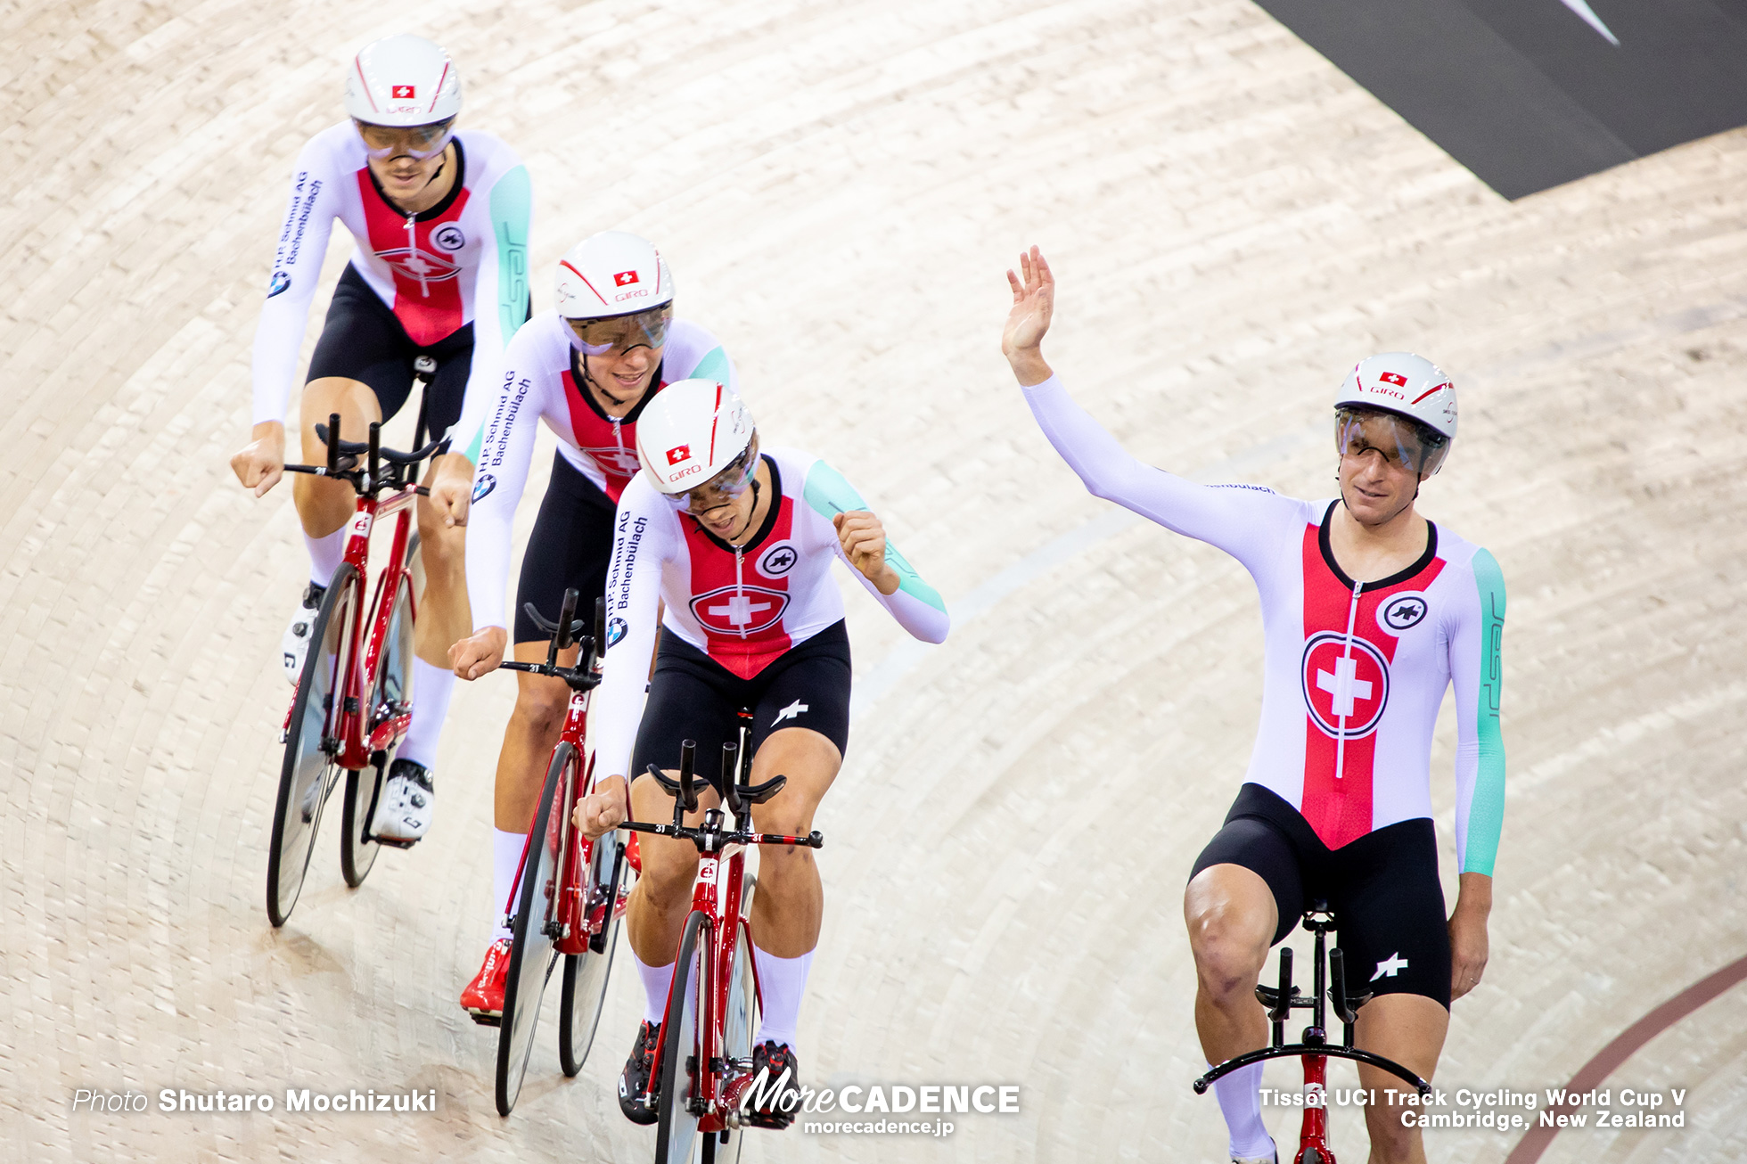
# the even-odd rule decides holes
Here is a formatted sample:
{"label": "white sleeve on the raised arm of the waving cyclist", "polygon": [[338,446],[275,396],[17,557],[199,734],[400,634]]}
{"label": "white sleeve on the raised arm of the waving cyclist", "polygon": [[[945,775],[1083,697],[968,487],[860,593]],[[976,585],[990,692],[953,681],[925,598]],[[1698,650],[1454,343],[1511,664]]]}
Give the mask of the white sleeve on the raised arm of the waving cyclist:
{"label": "white sleeve on the raised arm of the waving cyclist", "polygon": [[1204,486],[1136,460],[1073,402],[1055,376],[1024,391],[1043,435],[1092,496],[1116,502],[1167,530],[1218,545],[1253,575],[1279,549],[1275,523],[1296,517],[1298,502],[1272,489]]}

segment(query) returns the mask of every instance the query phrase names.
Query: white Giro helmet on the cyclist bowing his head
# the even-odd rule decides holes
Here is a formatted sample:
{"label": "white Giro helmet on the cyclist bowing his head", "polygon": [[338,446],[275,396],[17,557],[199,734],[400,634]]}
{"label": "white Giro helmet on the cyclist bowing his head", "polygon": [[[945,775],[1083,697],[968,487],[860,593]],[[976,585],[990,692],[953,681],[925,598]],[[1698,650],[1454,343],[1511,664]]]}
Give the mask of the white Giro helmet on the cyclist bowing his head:
{"label": "white Giro helmet on the cyclist bowing his head", "polygon": [[[713,379],[667,385],[638,416],[638,460],[657,491],[676,495],[716,479],[753,440],[753,414]],[[744,474],[749,477],[749,474]],[[734,489],[735,482],[723,482]]]}

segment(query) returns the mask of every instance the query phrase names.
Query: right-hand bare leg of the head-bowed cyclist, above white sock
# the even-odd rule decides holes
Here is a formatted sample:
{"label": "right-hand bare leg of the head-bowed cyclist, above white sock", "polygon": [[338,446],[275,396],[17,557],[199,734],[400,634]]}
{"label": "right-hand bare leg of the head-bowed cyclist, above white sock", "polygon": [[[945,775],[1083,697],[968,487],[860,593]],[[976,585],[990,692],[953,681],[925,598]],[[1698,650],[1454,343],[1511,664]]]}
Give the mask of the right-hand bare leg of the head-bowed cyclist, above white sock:
{"label": "right-hand bare leg of the head-bowed cyclist, above white sock", "polygon": [[[809,727],[770,732],[753,757],[753,783],[788,776],[783,792],[753,806],[758,832],[805,837],[844,757],[828,738]],[[800,958],[819,944],[825,886],[812,849],[758,848],[758,893],[753,897],[753,944],[777,958]]]}

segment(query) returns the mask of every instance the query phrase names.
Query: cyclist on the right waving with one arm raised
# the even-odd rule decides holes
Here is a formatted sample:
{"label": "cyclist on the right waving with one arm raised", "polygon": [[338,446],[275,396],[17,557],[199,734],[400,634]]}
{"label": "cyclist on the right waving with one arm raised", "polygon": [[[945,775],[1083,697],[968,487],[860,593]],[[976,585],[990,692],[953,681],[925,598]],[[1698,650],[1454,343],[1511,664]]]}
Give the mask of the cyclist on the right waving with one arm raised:
{"label": "cyclist on the right waving with one arm raised", "polygon": [[[1195,954],[1195,1026],[1223,1063],[1267,1045],[1254,987],[1270,946],[1324,898],[1357,991],[1357,1043],[1431,1078],[1450,1000],[1487,963],[1492,863],[1504,813],[1492,554],[1415,510],[1455,437],[1455,388],[1431,362],[1375,355],[1335,397],[1340,496],[1200,486],[1129,456],[1043,360],[1055,283],[1038,248],[1008,271],[1001,348],[1038,425],[1087,488],[1237,558],[1261,594],[1261,729],[1225,827],[1195,862],[1183,912]],[[1431,823],[1431,734],[1455,685],[1455,848],[1445,919]],[[1352,970],[1349,970],[1352,973]],[[1356,993],[1357,993],[1356,991]],[[1375,1068],[1361,1084],[1391,1085]],[[1261,1064],[1214,1084],[1233,1161],[1275,1159],[1260,1117]],[[1401,1110],[1366,1110],[1373,1161],[1424,1161]]]}

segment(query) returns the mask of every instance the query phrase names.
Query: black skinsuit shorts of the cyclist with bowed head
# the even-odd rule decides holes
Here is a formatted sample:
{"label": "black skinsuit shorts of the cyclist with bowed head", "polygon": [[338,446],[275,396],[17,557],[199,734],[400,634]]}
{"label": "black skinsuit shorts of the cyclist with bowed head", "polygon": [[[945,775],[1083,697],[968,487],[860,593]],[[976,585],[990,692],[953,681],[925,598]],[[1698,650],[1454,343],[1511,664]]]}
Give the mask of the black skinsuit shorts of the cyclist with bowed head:
{"label": "black skinsuit shorts of the cyclist with bowed head", "polygon": [[660,633],[650,699],[643,708],[638,743],[631,750],[632,778],[680,767],[680,743],[697,741],[695,771],[722,792],[722,745],[739,741],[739,710],[753,713],[751,750],[784,727],[811,727],[839,753],[849,750],[849,631],[833,622],[749,680],[673,634]]}

